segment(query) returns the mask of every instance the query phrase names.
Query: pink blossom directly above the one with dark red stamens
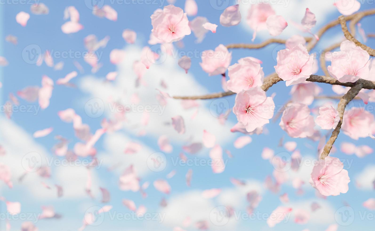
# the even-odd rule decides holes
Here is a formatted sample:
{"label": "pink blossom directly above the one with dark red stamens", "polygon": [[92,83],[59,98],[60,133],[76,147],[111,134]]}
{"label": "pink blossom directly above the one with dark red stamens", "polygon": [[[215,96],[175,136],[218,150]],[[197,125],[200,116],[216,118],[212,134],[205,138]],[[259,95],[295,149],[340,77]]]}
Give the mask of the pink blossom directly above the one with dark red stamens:
{"label": "pink blossom directly above the one with dark red stamens", "polygon": [[238,60],[238,63],[229,66],[228,76],[228,90],[240,93],[242,90],[262,86],[264,72],[260,64],[255,62],[252,57],[245,57]]}

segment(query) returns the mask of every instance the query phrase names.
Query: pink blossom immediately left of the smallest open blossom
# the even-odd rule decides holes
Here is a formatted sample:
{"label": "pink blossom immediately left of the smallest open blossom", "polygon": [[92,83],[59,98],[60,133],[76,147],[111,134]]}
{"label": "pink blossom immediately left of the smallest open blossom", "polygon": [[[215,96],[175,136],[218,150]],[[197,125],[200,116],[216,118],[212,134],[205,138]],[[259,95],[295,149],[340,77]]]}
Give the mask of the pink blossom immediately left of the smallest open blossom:
{"label": "pink blossom immediately left of the smallest open blossom", "polygon": [[279,125],[294,138],[305,138],[314,134],[314,117],[310,115],[310,109],[305,104],[289,104],[282,113]]}

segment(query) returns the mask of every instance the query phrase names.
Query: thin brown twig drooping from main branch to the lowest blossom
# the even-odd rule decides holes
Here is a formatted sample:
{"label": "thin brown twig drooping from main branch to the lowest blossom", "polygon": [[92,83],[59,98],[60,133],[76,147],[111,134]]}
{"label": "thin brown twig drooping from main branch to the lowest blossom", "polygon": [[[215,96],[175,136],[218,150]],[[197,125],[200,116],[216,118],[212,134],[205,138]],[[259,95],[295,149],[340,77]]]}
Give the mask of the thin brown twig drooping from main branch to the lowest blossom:
{"label": "thin brown twig drooping from main branch to the lowest blossom", "polygon": [[361,91],[361,89],[362,89],[362,83],[357,83],[339,101],[339,105],[337,107],[337,110],[339,112],[340,121],[337,124],[337,127],[335,128],[335,130],[333,130],[331,137],[329,138],[329,140],[326,143],[326,146],[324,146],[323,152],[320,156],[321,159],[324,160],[328,156],[328,154],[330,153],[330,151],[332,149],[333,143],[335,143],[335,141],[336,141],[336,139],[337,139],[337,137],[340,133],[340,129],[341,129],[341,125],[342,125],[342,119],[344,117],[345,107],[348,105],[348,103],[350,101],[352,101],[357,96],[358,92]]}

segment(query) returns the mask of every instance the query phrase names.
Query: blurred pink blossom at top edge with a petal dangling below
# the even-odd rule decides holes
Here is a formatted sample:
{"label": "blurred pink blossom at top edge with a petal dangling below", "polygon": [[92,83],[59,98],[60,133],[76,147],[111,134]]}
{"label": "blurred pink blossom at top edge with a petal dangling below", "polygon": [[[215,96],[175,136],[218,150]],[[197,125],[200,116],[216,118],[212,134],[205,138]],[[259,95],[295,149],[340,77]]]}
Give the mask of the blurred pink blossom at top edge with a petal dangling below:
{"label": "blurred pink blossom at top edge with a petal dangling below", "polygon": [[271,15],[275,15],[275,11],[272,9],[271,5],[268,3],[254,4],[249,9],[247,23],[254,30],[253,38],[251,41],[255,40],[257,31],[267,29],[267,18]]}

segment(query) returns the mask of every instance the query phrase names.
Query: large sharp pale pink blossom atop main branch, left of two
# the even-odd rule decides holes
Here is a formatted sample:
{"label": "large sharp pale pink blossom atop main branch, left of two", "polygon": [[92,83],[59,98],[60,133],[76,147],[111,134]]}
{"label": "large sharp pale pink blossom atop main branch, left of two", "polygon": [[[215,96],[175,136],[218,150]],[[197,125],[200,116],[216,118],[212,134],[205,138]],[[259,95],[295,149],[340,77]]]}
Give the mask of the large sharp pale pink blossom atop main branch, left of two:
{"label": "large sharp pale pink blossom atop main branch, left of two", "polygon": [[314,55],[309,55],[307,49],[298,44],[290,49],[278,52],[278,64],[275,66],[276,73],[286,81],[286,85],[303,83],[312,75]]}

